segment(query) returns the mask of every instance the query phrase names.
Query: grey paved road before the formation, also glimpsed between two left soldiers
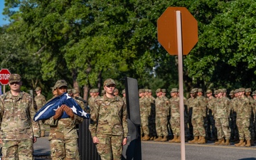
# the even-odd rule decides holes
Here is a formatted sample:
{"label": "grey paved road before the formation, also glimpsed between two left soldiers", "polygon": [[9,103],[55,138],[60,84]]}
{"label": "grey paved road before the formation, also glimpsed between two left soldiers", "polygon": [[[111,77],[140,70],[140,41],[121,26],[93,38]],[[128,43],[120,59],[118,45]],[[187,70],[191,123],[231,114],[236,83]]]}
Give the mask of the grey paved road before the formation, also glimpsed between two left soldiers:
{"label": "grey paved road before the formation, also glimpsed between two left soldiers", "polygon": [[[39,138],[34,144],[36,160],[48,160],[50,146],[48,137]],[[256,146],[235,147],[186,143],[186,160],[256,160]],[[142,142],[143,160],[180,160],[181,145],[169,142]],[[90,159],[89,159],[90,160]]]}

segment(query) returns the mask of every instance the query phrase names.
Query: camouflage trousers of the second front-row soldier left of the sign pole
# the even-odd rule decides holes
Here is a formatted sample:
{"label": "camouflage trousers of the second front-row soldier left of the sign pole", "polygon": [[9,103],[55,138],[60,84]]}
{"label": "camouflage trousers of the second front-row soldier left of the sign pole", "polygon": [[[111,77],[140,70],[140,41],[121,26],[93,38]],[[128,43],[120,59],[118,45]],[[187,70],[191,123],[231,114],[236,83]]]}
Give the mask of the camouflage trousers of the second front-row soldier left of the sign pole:
{"label": "camouflage trousers of the second front-row soldier left of the sign pole", "polygon": [[157,136],[168,136],[167,117],[156,117],[156,134]]}

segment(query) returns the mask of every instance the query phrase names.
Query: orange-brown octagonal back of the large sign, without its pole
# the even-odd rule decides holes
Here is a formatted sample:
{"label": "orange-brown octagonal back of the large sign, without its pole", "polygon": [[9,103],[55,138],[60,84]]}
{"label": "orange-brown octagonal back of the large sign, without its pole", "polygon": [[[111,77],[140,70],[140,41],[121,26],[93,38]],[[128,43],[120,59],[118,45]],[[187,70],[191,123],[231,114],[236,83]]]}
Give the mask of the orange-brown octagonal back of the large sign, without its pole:
{"label": "orange-brown octagonal back of the large sign, without its pole", "polygon": [[170,55],[178,55],[176,11],[181,11],[182,50],[187,55],[198,42],[198,23],[186,7],[168,7],[157,20],[157,36]]}

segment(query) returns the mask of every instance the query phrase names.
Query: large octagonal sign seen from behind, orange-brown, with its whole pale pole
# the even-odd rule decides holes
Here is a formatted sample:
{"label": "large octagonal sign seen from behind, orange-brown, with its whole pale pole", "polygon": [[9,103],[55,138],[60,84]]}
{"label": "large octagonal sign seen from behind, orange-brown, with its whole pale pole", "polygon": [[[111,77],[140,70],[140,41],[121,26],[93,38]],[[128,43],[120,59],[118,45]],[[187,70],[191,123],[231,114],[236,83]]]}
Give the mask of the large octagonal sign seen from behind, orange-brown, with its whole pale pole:
{"label": "large octagonal sign seen from behind, orange-brown, with its whole pale pole", "polygon": [[157,21],[158,41],[170,55],[178,55],[178,87],[181,130],[181,160],[185,160],[183,55],[198,42],[198,23],[185,7],[169,7]]}

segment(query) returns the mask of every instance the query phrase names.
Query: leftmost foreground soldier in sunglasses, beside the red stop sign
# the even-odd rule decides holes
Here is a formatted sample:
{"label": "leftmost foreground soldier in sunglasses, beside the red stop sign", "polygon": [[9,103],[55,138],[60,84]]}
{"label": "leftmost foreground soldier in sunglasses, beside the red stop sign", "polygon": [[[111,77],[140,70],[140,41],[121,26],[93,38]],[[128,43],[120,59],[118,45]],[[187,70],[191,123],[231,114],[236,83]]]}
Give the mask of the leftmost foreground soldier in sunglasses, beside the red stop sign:
{"label": "leftmost foreground soldier in sunglasses, beside the red stop sign", "polygon": [[36,102],[21,91],[21,76],[11,74],[11,90],[0,96],[2,159],[33,159],[33,143],[40,137],[38,122],[33,121]]}

